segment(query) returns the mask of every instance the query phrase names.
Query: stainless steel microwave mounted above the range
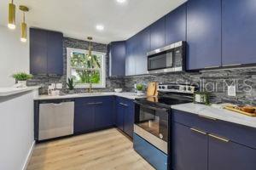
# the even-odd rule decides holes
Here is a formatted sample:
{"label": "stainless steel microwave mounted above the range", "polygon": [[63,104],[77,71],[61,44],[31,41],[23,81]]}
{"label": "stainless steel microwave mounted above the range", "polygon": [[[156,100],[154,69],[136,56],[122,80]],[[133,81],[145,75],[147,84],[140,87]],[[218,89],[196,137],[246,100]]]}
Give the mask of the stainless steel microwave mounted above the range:
{"label": "stainless steel microwave mounted above the range", "polygon": [[148,73],[185,71],[186,42],[155,49],[148,55]]}

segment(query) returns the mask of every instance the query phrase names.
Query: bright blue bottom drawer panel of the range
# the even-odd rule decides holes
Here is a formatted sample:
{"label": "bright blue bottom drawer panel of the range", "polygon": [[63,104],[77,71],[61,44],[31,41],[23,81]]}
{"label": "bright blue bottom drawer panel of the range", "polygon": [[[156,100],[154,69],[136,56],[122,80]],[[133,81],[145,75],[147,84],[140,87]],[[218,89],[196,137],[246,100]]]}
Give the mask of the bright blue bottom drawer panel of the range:
{"label": "bright blue bottom drawer panel of the range", "polygon": [[167,170],[168,156],[155,148],[152,144],[149,144],[146,140],[142,139],[136,133],[133,134],[133,148],[157,170]]}

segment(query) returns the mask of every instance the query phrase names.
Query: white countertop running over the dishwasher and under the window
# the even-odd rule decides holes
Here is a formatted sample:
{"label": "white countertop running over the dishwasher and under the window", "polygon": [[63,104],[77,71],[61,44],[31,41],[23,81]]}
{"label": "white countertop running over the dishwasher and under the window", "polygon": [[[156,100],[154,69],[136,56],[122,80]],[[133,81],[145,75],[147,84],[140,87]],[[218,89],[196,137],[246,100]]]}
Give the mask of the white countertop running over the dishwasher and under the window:
{"label": "white countertop running over the dishwasher and under the window", "polygon": [[34,100],[44,100],[44,99],[73,99],[73,98],[85,98],[85,97],[96,97],[96,96],[119,96],[126,99],[136,99],[136,98],[144,98],[145,95],[137,95],[135,93],[115,93],[115,92],[103,92],[103,93],[91,93],[91,94],[66,94],[59,96],[49,96],[49,95],[39,95]]}

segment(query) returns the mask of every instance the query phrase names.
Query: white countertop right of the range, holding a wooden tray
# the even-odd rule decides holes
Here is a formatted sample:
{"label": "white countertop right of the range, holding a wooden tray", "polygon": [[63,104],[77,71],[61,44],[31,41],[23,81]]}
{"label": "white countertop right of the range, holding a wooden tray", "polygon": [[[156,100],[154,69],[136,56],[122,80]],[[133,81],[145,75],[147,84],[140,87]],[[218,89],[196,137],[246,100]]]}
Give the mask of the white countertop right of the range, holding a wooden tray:
{"label": "white countertop right of the range, holding a wooden tray", "polygon": [[233,122],[247,127],[256,128],[256,117],[242,115],[240,113],[236,113],[235,111],[227,111],[222,108],[189,103],[182,105],[172,105],[172,109],[186,111],[195,115],[208,116],[218,120]]}

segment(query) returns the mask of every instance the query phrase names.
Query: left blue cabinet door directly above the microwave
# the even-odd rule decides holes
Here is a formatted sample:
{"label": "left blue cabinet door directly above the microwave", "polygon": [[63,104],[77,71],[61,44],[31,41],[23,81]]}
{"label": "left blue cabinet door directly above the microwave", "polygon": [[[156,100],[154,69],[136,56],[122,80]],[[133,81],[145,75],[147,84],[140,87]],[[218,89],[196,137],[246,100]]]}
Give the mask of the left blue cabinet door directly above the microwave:
{"label": "left blue cabinet door directly above the microwave", "polygon": [[166,17],[162,17],[150,26],[151,50],[162,48],[166,45]]}

